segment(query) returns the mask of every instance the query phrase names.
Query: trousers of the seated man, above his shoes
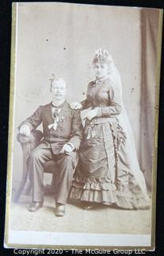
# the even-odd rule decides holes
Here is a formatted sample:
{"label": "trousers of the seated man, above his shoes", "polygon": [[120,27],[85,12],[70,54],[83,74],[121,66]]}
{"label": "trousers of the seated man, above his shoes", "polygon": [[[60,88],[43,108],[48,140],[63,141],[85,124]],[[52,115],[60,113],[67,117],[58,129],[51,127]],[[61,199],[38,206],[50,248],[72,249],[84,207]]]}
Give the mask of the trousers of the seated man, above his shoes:
{"label": "trousers of the seated man, above his shoes", "polygon": [[27,164],[29,179],[33,184],[33,202],[44,199],[44,164],[49,160],[57,162],[57,202],[65,204],[72,185],[72,177],[76,166],[76,152],[53,154],[51,148],[38,147],[29,155]]}

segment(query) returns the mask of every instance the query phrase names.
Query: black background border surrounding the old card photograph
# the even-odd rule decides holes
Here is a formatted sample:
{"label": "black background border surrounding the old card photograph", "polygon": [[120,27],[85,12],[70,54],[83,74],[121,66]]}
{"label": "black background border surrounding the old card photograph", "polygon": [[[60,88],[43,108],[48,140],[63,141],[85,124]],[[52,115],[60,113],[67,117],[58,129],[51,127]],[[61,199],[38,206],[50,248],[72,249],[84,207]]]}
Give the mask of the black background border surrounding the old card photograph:
{"label": "black background border surrounding the old card photograph", "polygon": [[[16,1],[13,1],[16,2]],[[29,1],[19,1],[29,2]],[[48,1],[35,1],[48,2]],[[154,1],[53,1],[100,4],[107,6],[136,6],[164,8],[163,0]],[[6,165],[8,142],[8,118],[10,96],[10,46],[11,46],[11,11],[12,1],[0,0],[0,256],[14,255],[14,250],[3,247],[5,208],[6,208]],[[164,23],[164,22],[163,22]],[[158,168],[157,168],[157,210],[156,210],[156,248],[154,252],[143,255],[162,256],[164,254],[164,26],[162,28],[162,65],[159,100],[158,125]],[[21,255],[21,254],[18,254]],[[29,254],[34,255],[34,254]],[[46,255],[46,254],[45,254]],[[112,255],[112,254],[110,254]],[[115,255],[115,254],[113,254]],[[126,255],[126,254],[116,254]],[[131,254],[136,255],[136,254]]]}

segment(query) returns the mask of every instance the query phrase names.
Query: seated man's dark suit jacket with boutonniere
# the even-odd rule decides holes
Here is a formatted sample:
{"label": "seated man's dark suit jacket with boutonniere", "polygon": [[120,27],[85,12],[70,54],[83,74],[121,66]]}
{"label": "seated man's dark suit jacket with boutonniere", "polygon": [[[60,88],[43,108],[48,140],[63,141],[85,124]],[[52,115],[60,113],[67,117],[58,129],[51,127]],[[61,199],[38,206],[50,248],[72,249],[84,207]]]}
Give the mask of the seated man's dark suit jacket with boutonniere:
{"label": "seated man's dark suit jacket with boutonniere", "polygon": [[51,147],[53,154],[59,154],[65,143],[72,143],[75,150],[80,147],[82,139],[83,126],[80,118],[80,110],[72,110],[68,102],[64,102],[59,114],[57,130],[49,129],[49,125],[54,122],[51,103],[45,106],[39,106],[33,115],[27,118],[22,125],[28,125],[30,130],[34,130],[42,122],[43,139],[39,147]]}

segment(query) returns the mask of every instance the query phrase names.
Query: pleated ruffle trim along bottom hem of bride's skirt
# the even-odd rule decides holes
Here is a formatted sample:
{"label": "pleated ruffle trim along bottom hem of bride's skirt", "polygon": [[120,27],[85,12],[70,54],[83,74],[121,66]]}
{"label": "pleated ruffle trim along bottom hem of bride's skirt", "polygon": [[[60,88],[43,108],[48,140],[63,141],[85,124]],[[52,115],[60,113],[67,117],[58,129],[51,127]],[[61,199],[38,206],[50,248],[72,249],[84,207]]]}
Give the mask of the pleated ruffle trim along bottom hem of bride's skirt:
{"label": "pleated ruffle trim along bottom hem of bride's skirt", "polygon": [[99,202],[105,205],[115,204],[123,209],[147,209],[148,198],[142,193],[133,194],[127,186],[116,188],[107,178],[88,178],[88,182],[73,181],[69,198],[85,202]]}

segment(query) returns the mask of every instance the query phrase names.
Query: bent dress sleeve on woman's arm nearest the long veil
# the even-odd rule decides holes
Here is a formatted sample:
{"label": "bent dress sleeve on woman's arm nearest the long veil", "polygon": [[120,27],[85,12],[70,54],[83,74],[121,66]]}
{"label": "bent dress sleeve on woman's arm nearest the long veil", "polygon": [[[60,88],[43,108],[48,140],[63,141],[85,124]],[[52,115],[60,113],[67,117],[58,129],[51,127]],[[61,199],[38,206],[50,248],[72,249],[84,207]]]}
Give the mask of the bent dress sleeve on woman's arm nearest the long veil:
{"label": "bent dress sleeve on woman's arm nearest the long veil", "polygon": [[119,89],[114,89],[115,86],[112,86],[107,91],[108,99],[109,99],[109,106],[100,106],[97,107],[97,117],[112,117],[116,114],[121,113],[121,98]]}

